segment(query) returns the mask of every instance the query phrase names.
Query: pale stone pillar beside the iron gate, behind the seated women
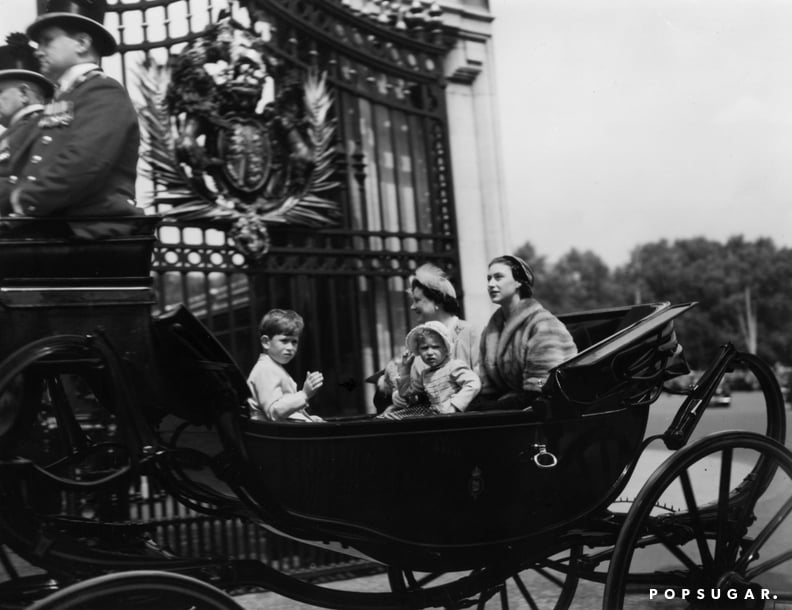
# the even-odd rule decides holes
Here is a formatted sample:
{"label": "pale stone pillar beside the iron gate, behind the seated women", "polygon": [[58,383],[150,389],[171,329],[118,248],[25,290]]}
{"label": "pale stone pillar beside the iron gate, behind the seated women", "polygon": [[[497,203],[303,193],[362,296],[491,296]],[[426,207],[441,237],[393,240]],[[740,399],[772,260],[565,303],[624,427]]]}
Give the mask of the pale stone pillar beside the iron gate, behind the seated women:
{"label": "pale stone pillar beside the iron gate, behind the seated women", "polygon": [[493,311],[487,263],[512,252],[503,189],[492,20],[483,2],[444,3],[443,23],[457,31],[446,58],[446,104],[459,234],[465,317],[483,327]]}

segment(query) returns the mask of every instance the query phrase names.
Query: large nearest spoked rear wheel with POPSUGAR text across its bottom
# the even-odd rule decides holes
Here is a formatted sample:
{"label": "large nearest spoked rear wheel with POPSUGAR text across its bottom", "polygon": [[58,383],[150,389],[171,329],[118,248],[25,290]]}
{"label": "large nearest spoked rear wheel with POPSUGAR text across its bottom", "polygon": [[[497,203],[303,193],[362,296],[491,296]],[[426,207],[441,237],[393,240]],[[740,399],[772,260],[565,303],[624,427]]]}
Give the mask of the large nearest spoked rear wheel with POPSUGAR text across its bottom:
{"label": "large nearest spoked rear wheel with POPSUGAR text across its bottom", "polygon": [[[746,478],[751,472],[760,476]],[[792,454],[760,434],[713,434],[669,457],[641,489],[603,608],[634,598],[652,607],[764,607],[792,590],[790,549]]]}

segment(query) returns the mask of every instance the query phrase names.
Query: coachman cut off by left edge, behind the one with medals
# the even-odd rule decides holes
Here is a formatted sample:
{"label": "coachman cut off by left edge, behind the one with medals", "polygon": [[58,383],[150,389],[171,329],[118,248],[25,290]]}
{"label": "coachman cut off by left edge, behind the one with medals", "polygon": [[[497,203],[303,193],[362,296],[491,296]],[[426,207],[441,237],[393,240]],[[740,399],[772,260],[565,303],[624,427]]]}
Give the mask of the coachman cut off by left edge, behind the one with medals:
{"label": "coachman cut off by left edge, behind the one with medals", "polygon": [[54,85],[39,73],[27,36],[10,34],[0,47],[0,215],[11,213],[8,177],[36,137],[36,124]]}

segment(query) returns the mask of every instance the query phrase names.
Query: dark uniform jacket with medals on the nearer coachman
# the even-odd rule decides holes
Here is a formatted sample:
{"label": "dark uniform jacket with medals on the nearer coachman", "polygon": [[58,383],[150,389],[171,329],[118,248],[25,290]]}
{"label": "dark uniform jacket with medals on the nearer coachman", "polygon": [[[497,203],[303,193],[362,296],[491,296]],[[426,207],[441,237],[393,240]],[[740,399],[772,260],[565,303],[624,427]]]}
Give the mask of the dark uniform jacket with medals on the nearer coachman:
{"label": "dark uniform jacket with medals on the nearer coachman", "polygon": [[[101,70],[81,76],[39,117],[24,162],[8,180],[25,216],[127,216],[134,207],[140,129],[124,87]],[[72,223],[70,223],[72,224]],[[74,223],[74,227],[84,223]],[[113,223],[109,234],[114,231]],[[75,230],[79,235],[79,231]],[[106,234],[100,224],[89,237]]]}

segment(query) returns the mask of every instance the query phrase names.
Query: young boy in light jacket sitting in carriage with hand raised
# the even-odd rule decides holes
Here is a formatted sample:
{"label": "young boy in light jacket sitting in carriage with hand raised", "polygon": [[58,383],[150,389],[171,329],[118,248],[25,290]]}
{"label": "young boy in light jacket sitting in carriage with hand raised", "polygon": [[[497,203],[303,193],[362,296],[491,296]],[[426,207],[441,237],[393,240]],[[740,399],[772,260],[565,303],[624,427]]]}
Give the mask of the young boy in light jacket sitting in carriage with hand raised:
{"label": "young boy in light jacket sitting in carriage with hand raised", "polygon": [[248,376],[253,419],[323,421],[307,412],[308,401],[324,383],[322,374],[309,371],[298,391],[297,383],[283,368],[297,354],[304,326],[302,316],[290,309],[271,309],[261,319],[262,354]]}

